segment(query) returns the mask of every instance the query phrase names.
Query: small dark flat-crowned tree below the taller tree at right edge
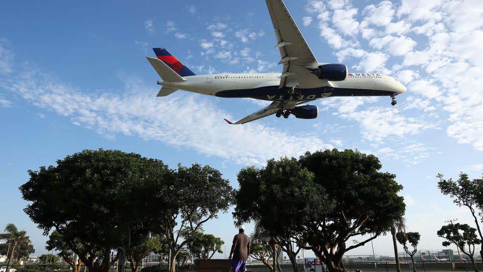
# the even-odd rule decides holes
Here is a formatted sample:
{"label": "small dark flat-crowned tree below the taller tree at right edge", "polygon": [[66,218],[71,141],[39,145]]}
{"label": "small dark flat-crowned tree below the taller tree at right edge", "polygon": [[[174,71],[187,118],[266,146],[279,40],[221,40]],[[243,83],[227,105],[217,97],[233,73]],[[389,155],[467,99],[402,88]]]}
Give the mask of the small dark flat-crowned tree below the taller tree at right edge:
{"label": "small dark flat-crowned tree below the taller tree at right edge", "polygon": [[[474,246],[481,244],[481,240],[478,239],[475,232],[476,229],[471,228],[468,224],[456,223],[442,226],[437,234],[439,237],[446,239],[443,242],[443,246],[455,244],[461,252],[466,254],[471,259],[474,271],[478,272],[478,268],[476,268],[476,264],[474,263],[473,254]],[[465,245],[467,249],[465,249]]]}

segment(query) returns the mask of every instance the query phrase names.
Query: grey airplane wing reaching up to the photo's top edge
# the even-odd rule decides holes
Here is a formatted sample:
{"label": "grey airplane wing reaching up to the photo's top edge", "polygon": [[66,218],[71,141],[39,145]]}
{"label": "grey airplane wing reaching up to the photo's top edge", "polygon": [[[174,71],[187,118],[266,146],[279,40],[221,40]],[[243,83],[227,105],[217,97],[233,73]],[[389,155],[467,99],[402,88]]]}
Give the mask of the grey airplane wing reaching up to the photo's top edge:
{"label": "grey airplane wing reaching up to the photo's top edge", "polygon": [[273,28],[277,45],[275,48],[280,50],[283,64],[283,72],[280,76],[280,88],[283,87],[303,87],[308,78],[313,79],[314,75],[304,66],[317,63],[310,47],[300,33],[297,25],[288,12],[282,0],[265,0],[267,3],[270,17],[272,18]]}

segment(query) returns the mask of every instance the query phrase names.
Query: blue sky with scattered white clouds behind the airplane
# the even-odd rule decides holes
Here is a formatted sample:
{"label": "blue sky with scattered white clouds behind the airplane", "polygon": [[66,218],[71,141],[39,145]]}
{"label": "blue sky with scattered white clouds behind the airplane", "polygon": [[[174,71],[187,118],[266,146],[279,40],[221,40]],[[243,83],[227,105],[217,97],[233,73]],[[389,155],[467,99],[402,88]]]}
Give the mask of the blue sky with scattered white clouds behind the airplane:
{"label": "blue sky with scattered white clouds behind the airplane", "polygon": [[[436,187],[438,172],[483,173],[483,11],[475,1],[292,1],[286,5],[319,61],[393,76],[390,98],[317,101],[314,120],[273,116],[240,126],[266,103],[179,91],[156,98],[145,56],[165,47],[196,74],[281,71],[263,1],[7,2],[0,10],[0,227],[15,223],[45,252],[22,212],[28,169],[83,149],[119,149],[236,173],[307,150],[358,149],[378,156],[404,185],[408,229],[422,249],[442,248],[445,220],[471,223]],[[206,225],[228,244],[231,214]],[[248,232],[251,231],[249,226]],[[388,237],[376,254],[391,254]],[[365,246],[349,254],[370,254]]]}

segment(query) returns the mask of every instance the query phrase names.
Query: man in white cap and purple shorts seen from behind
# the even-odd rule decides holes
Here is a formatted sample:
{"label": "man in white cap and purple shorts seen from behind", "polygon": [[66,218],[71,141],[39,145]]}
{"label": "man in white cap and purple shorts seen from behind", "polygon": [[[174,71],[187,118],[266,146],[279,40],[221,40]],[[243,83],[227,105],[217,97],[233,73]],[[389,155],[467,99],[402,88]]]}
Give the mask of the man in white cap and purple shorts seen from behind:
{"label": "man in white cap and purple shorts seen from behind", "polygon": [[250,238],[245,234],[245,225],[238,228],[239,233],[233,237],[230,259],[232,272],[245,272],[248,255],[250,255]]}

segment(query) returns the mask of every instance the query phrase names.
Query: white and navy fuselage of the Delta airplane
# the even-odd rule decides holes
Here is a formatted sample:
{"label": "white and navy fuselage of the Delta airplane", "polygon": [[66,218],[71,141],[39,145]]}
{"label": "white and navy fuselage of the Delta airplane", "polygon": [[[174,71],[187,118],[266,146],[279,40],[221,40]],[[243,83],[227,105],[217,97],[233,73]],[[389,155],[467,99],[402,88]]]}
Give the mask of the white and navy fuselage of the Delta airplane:
{"label": "white and navy fuselage of the Delta airplane", "polygon": [[[159,85],[194,93],[220,97],[250,97],[262,100],[284,100],[279,89],[280,74],[216,74],[185,77],[185,82],[158,82]],[[329,96],[394,96],[406,87],[392,77],[372,73],[349,73],[344,81],[325,81],[313,76],[304,82],[298,100],[313,100]]]}

